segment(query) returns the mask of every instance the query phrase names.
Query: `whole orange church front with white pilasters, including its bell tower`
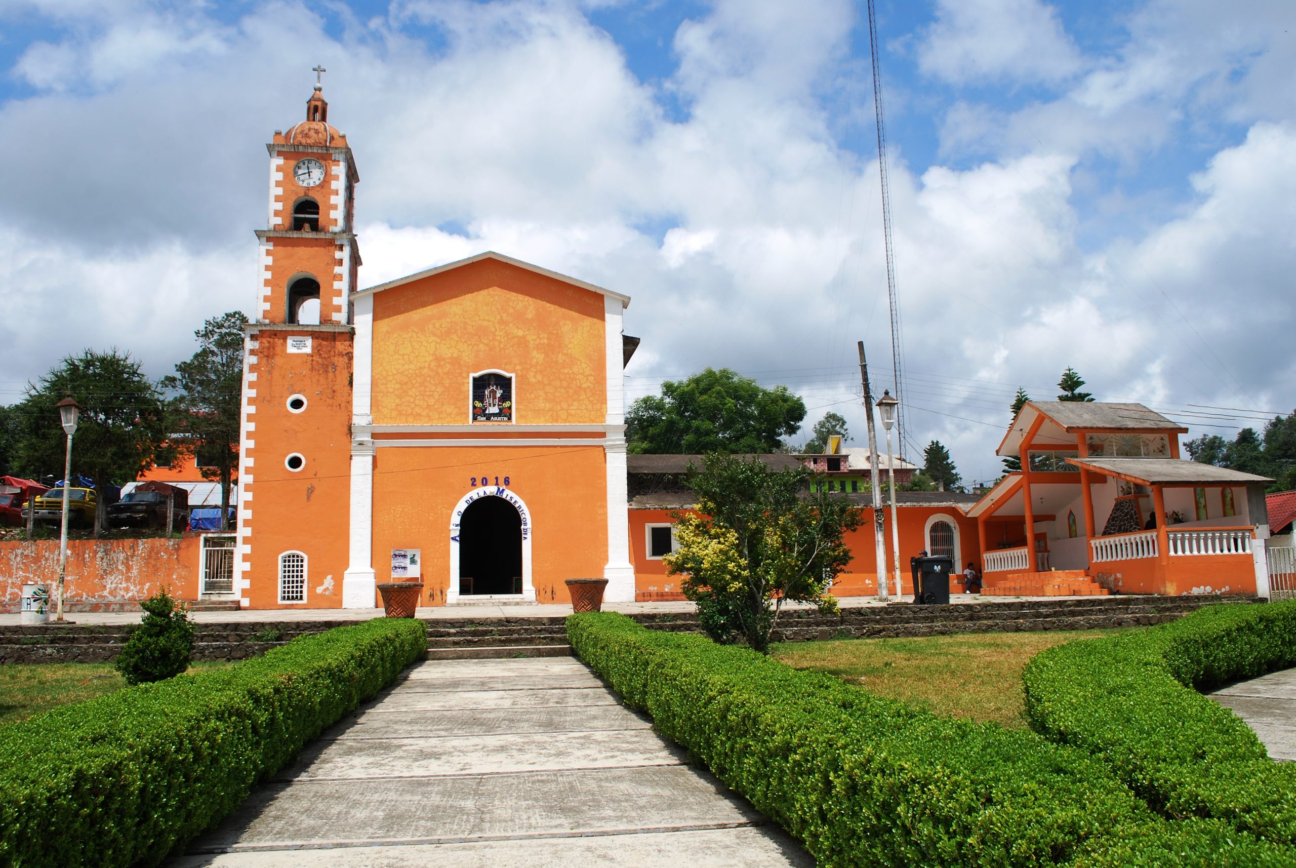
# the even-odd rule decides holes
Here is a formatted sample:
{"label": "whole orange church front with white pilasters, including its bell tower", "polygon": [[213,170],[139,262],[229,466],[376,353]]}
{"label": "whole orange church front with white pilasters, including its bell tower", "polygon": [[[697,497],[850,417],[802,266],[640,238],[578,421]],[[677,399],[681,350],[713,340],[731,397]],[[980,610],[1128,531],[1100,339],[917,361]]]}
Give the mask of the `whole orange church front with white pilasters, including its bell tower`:
{"label": "whole orange church front with white pilasters, including its bell tower", "polygon": [[630,298],[485,253],[358,289],[355,159],[316,92],[268,144],[248,326],[235,596],[248,608],[635,599]]}

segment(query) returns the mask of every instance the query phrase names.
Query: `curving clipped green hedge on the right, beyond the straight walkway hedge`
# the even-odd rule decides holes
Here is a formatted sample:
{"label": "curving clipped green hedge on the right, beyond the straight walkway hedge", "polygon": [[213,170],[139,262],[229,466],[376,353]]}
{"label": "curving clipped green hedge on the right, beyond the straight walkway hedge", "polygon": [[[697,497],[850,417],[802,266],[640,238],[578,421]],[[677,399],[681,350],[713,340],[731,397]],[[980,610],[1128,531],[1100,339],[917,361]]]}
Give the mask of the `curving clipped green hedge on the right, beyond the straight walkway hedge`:
{"label": "curving clipped green hedge on the right, beyond the straight walkway hedge", "polygon": [[1199,609],[1169,624],[1043,652],[1025,668],[1026,716],[1170,817],[1218,817],[1296,846],[1296,764],[1198,693],[1296,666],[1296,601]]}

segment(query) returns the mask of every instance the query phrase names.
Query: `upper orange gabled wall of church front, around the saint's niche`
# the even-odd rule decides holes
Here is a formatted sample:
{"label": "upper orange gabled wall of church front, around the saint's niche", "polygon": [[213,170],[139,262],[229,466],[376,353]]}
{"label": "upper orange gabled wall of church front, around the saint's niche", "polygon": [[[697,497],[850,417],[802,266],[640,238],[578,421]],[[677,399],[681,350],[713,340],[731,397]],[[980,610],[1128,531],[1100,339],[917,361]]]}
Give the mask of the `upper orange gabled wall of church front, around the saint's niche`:
{"label": "upper orange gabled wall of church front, around the saint's niche", "polygon": [[467,425],[469,374],[494,369],[516,374],[517,424],[601,425],[604,354],[603,295],[498,260],[463,266],[375,294],[373,422]]}

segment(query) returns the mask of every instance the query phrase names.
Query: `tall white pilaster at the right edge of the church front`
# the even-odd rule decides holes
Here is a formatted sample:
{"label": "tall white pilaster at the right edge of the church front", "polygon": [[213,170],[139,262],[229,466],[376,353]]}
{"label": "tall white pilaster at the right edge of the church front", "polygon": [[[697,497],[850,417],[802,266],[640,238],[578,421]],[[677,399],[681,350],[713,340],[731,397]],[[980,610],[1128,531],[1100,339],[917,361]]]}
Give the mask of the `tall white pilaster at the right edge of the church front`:
{"label": "tall white pilaster at the right edge of the church front", "polygon": [[608,602],[635,601],[635,567],[630,562],[630,499],[626,488],[626,391],[625,361],[622,360],[622,312],[619,298],[605,295],[604,337],[608,380],[608,439],[604,448],[608,465],[608,564],[603,578],[608,579],[604,600]]}

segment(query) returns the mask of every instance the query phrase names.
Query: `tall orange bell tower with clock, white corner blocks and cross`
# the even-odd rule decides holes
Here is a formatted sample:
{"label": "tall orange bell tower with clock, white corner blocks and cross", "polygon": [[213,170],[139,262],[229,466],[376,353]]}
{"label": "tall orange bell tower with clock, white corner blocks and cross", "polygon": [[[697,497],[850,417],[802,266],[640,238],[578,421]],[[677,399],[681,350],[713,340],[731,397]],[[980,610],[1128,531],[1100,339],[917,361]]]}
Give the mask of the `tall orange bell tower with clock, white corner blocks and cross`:
{"label": "tall orange bell tower with clock, white corner blocks and cross", "polygon": [[[316,67],[306,119],[275,131],[260,280],[244,343],[235,597],[342,605],[351,474],[353,229],[360,180]],[[372,591],[365,605],[373,605]]]}

